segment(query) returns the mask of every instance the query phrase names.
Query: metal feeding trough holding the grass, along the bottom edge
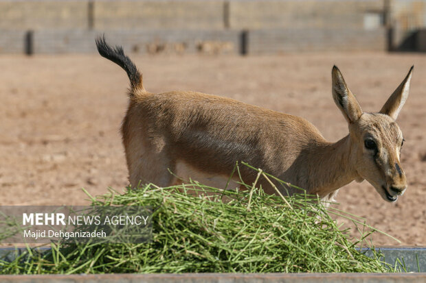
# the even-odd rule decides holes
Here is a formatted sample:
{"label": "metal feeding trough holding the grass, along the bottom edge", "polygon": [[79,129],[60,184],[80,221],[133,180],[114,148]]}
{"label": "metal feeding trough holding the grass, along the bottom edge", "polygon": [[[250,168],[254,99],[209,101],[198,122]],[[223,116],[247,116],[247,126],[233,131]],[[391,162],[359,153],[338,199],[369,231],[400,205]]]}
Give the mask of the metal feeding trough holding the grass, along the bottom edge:
{"label": "metal feeding trough holding the grass, along the bottom edge", "polygon": [[[0,248],[0,260],[13,260],[26,248]],[[39,247],[35,252],[44,252],[48,247]],[[2,282],[144,282],[144,283],[278,283],[278,282],[426,282],[426,247],[377,247],[383,260],[400,264],[408,273],[184,273],[184,274],[102,274],[102,275],[1,275]],[[371,249],[363,248],[367,256]]]}

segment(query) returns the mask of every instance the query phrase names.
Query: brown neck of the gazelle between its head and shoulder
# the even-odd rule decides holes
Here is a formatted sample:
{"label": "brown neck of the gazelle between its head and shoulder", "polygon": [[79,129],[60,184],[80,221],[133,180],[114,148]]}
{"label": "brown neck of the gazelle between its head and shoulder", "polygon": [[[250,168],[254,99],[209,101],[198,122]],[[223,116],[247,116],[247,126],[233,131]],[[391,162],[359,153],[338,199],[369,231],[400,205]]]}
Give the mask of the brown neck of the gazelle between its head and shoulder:
{"label": "brown neck of the gazelle between its head and shoulder", "polygon": [[317,143],[307,153],[304,164],[309,168],[308,193],[324,198],[335,190],[349,184],[359,175],[355,169],[355,153],[350,136],[336,143]]}

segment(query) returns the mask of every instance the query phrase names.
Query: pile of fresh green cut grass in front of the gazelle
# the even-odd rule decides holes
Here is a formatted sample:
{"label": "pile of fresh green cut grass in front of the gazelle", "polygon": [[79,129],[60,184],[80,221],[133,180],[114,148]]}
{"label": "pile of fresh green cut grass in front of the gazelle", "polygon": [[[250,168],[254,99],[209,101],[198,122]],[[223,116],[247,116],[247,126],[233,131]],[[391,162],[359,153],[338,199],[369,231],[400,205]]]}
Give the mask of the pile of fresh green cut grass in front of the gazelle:
{"label": "pile of fresh green cut grass in front of the gazelle", "polygon": [[[262,175],[262,176],[260,176]],[[266,177],[259,172],[260,177]],[[258,188],[148,184],[92,198],[96,206],[151,206],[153,241],[52,244],[28,248],[0,273],[302,273],[390,272],[356,249],[326,209],[306,195],[265,195]]]}

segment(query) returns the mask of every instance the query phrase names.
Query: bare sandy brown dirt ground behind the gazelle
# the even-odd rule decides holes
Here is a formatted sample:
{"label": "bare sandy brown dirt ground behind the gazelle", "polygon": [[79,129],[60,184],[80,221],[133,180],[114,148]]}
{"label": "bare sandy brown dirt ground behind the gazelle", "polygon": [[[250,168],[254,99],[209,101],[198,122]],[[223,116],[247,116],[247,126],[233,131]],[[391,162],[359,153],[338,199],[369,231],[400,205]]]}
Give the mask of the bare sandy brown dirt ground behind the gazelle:
{"label": "bare sandy brown dirt ground behind the gazelle", "polygon": [[[365,217],[401,240],[426,245],[426,56],[303,53],[282,56],[131,55],[151,92],[197,90],[302,116],[325,138],[348,133],[331,96],[337,64],[366,112],[377,112],[415,65],[398,123],[409,188],[389,204],[364,181],[341,188],[337,208]],[[98,55],[0,56],[0,203],[87,204],[87,196],[127,184],[120,123],[128,79]],[[347,220],[339,220],[348,222]],[[354,234],[355,230],[352,228]],[[399,245],[377,234],[375,245]]]}

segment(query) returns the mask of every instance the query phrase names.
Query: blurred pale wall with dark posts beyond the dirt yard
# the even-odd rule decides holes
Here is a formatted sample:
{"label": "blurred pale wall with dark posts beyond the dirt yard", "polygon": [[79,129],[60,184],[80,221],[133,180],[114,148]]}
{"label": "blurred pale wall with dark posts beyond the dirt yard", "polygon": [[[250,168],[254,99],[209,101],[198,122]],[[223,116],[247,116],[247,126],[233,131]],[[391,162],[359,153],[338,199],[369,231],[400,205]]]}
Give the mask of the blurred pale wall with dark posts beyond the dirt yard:
{"label": "blurred pale wall with dark posts beyond the dirt yard", "polygon": [[426,51],[426,1],[0,1],[1,53]]}

